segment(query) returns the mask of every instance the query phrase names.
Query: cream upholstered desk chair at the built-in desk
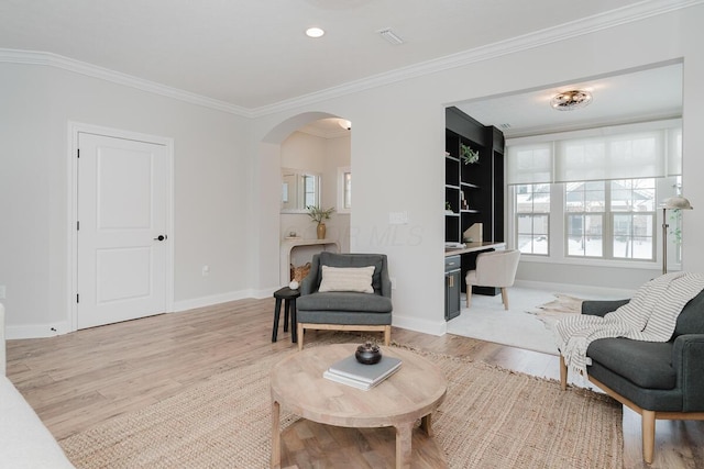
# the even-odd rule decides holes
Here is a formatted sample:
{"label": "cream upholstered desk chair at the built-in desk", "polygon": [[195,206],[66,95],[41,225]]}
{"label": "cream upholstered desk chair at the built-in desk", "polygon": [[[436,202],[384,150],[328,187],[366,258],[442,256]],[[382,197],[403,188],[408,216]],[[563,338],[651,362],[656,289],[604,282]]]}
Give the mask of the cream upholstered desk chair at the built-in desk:
{"label": "cream upholstered desk chair at the built-in desk", "polygon": [[476,269],[469,270],[466,277],[466,308],[472,304],[472,287],[495,287],[502,289],[502,303],[508,310],[506,289],[514,284],[518,269],[520,250],[493,250],[476,256]]}

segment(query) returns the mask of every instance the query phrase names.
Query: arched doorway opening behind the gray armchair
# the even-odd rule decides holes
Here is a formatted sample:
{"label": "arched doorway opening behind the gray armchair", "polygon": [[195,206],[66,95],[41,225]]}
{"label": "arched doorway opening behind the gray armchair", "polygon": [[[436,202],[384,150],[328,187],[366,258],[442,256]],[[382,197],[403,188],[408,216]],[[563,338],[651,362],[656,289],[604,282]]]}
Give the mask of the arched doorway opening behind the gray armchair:
{"label": "arched doorway opening behind the gray armchair", "polygon": [[[276,217],[278,223],[276,233],[271,233],[272,219],[267,223],[265,214],[261,213],[260,226],[268,226],[270,232],[260,237],[260,250],[270,253],[271,267],[275,261],[278,265],[277,286],[287,283],[289,263],[305,264],[323,248],[350,250],[350,125],[349,121],[332,114],[309,112],[279,123],[262,139],[261,187],[268,188],[268,194],[276,194],[275,202],[271,196],[266,197],[266,213]],[[305,187],[304,181],[308,182]],[[324,244],[308,244],[317,239],[317,223],[312,222],[306,209],[309,204],[334,209],[330,220],[326,221]],[[296,245],[294,250],[289,250],[292,244]],[[278,253],[277,259],[271,255],[272,250]],[[272,284],[274,279],[270,273],[263,270],[261,275],[271,279],[263,284]]]}

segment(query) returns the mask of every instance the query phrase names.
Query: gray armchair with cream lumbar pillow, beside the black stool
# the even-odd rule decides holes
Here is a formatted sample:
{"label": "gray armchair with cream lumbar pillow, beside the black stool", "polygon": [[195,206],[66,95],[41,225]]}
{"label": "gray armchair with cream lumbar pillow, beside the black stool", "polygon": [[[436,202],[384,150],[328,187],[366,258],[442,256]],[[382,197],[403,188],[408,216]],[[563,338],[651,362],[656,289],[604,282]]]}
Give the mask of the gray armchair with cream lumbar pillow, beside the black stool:
{"label": "gray armchair with cream lumbar pillow, beside the black stool", "polygon": [[[319,291],[323,266],[334,268],[374,266],[373,293]],[[392,282],[384,254],[334,254],[323,252],[312,257],[310,273],[300,284],[297,301],[298,349],[304,348],[305,330],[378,331],[384,344],[392,335]]]}

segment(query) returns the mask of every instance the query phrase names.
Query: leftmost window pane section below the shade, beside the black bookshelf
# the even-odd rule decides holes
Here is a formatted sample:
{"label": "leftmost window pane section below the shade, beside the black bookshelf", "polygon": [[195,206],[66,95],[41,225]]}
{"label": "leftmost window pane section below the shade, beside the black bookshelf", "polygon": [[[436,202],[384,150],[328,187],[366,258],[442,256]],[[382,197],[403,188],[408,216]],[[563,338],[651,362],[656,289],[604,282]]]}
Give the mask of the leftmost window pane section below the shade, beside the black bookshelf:
{"label": "leftmost window pane section below the shade, beside the black bookshelf", "polygon": [[519,185],[515,194],[518,248],[526,254],[548,255],[550,185]]}

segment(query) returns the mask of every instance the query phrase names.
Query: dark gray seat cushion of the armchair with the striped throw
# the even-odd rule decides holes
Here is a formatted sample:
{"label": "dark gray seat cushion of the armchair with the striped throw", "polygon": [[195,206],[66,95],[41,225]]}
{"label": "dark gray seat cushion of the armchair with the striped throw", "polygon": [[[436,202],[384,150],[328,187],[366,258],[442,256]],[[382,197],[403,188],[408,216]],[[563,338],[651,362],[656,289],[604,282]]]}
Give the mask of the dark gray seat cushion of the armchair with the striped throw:
{"label": "dark gray seat cushion of the armchair with the striped throw", "polygon": [[676,371],[672,368],[672,342],[601,338],[590,344],[586,355],[639,388],[673,389]]}

